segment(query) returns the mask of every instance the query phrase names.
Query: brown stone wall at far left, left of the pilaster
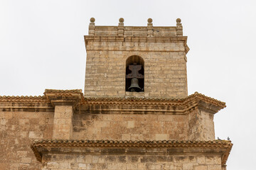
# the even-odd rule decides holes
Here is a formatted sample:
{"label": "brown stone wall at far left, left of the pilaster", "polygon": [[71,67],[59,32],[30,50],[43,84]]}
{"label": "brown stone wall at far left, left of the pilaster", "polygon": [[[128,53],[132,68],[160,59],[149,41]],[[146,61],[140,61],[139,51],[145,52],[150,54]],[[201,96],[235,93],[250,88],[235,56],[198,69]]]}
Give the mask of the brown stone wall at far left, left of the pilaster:
{"label": "brown stone wall at far left, left of the pilaster", "polygon": [[30,145],[52,135],[52,112],[0,111],[0,169],[41,169]]}

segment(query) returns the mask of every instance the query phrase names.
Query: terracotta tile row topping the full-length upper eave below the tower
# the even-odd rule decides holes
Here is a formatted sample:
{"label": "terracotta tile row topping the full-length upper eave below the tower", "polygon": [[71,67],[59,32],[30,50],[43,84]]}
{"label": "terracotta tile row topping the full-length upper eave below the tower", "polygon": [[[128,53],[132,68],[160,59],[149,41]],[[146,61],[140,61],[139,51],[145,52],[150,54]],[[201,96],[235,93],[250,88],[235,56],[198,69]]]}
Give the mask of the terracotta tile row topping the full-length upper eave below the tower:
{"label": "terracotta tile row topping the full-length upper eave below the tower", "polygon": [[[80,99],[77,101],[81,105],[132,105],[132,106],[181,106],[181,107],[194,107],[199,101],[210,103],[217,106],[219,111],[225,108],[225,103],[218,101],[215,98],[210,98],[198,92],[186,98],[85,98],[82,96],[82,90],[53,90],[46,89],[45,96],[0,96],[0,102],[16,102],[16,103],[50,103],[48,96],[67,96],[79,95]],[[185,107],[185,108],[186,108]],[[186,108],[190,109],[190,108]],[[214,112],[216,112],[214,111]]]}

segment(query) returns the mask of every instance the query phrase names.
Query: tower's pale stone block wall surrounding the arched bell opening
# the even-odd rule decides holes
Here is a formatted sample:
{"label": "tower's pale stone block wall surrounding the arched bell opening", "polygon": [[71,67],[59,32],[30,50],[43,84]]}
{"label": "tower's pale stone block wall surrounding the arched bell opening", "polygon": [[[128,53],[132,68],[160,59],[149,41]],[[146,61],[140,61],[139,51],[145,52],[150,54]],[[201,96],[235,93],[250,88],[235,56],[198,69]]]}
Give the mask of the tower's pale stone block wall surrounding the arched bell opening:
{"label": "tower's pale stone block wall surrounding the arched bell opening", "polygon": [[[132,55],[144,59],[144,92],[125,92],[126,60]],[[183,42],[88,42],[85,96],[134,95],[149,98],[188,95]]]}

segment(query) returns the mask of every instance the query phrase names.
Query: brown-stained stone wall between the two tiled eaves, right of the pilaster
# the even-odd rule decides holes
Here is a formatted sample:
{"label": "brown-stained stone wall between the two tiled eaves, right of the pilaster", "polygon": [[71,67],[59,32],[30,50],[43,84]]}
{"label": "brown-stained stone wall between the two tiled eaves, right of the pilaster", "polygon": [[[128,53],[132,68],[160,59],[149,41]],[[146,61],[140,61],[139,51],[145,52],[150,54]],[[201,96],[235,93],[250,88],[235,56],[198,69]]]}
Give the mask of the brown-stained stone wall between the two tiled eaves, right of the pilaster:
{"label": "brown-stained stone wall between the two tiled eaves, right of the pilaster", "polygon": [[186,115],[79,114],[73,119],[75,140],[186,140]]}

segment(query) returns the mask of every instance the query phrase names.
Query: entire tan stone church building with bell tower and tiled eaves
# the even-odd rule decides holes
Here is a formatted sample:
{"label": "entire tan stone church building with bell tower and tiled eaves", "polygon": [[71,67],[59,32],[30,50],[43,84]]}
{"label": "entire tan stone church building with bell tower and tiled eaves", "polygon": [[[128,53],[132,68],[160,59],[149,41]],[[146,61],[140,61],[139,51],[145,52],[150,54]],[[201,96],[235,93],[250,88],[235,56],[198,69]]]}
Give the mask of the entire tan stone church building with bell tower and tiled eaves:
{"label": "entire tan stone church building with bell tower and tiled eaves", "polygon": [[95,26],[85,91],[0,96],[0,169],[225,170],[233,146],[215,140],[225,103],[188,96],[187,37],[176,26]]}

